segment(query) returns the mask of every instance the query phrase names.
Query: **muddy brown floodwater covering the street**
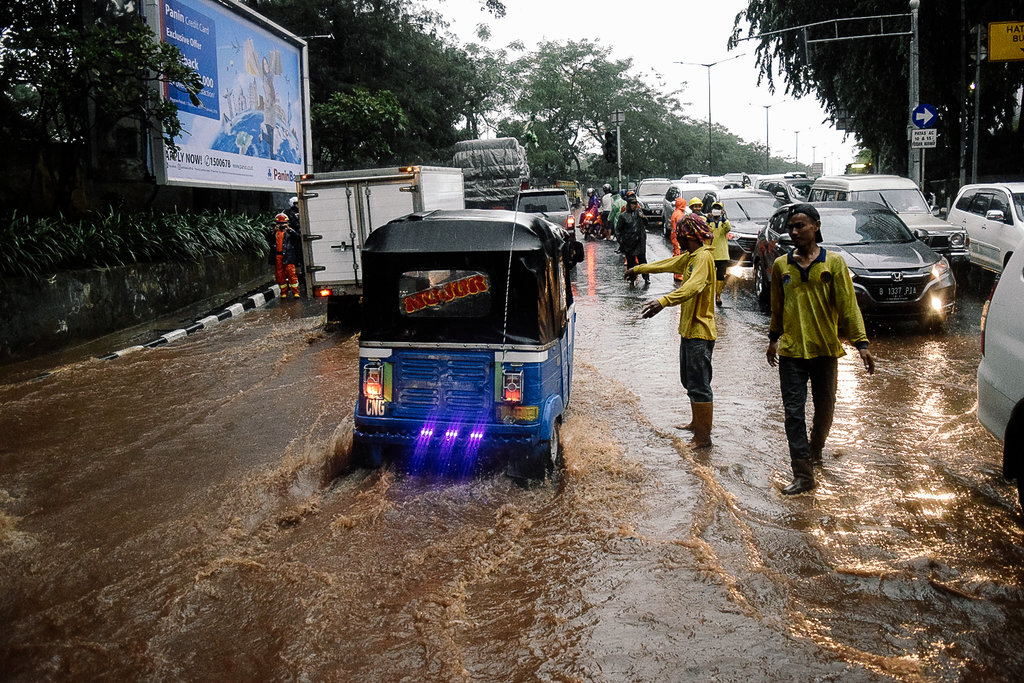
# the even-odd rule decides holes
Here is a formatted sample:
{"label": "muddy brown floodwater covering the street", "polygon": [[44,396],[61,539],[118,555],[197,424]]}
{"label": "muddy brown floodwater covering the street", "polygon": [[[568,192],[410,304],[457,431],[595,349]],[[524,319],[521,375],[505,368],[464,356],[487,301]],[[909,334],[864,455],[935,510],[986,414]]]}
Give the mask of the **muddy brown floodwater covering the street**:
{"label": "muddy brown floodwater covering the street", "polygon": [[614,249],[577,268],[565,468],[530,489],[346,471],[357,339],[315,303],[0,368],[0,677],[1017,680],[984,283],[946,331],[869,326],[878,372],[840,361],[818,487],[787,499],[751,284],[724,294],[714,445],[692,453],[677,311],[639,317],[671,275],[631,288]]}

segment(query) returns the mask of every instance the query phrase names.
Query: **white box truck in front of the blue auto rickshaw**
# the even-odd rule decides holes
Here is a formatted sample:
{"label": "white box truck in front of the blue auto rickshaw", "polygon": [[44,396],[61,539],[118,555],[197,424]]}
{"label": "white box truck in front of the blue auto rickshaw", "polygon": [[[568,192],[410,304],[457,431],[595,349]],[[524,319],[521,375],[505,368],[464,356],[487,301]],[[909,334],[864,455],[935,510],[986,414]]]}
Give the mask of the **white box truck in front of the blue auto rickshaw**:
{"label": "white box truck in front of the blue auto rickshaw", "polygon": [[465,209],[461,168],[307,173],[296,182],[306,296],[326,297],[328,323],[358,315],[360,253],[373,230],[420,211]]}

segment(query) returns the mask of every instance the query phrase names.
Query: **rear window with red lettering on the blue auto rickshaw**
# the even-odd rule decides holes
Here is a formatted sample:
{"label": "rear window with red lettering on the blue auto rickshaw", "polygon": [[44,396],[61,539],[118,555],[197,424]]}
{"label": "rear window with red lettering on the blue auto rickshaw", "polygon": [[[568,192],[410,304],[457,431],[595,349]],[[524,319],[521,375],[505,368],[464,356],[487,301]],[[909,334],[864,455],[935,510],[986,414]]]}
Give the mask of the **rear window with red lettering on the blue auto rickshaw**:
{"label": "rear window with red lettering on the blue auto rickshaw", "polygon": [[490,293],[490,276],[479,270],[407,270],[398,279],[398,307],[409,317],[483,317]]}

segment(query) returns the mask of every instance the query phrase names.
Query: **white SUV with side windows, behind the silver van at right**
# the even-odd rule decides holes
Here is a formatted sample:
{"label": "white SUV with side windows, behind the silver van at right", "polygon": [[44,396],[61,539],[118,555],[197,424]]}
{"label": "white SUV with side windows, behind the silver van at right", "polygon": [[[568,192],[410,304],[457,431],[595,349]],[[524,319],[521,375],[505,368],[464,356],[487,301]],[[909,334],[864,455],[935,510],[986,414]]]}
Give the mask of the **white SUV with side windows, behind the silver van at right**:
{"label": "white SUV with side windows, behind the silver van at right", "polygon": [[971,238],[971,262],[1000,272],[1024,240],[1024,182],[964,185],[947,220]]}

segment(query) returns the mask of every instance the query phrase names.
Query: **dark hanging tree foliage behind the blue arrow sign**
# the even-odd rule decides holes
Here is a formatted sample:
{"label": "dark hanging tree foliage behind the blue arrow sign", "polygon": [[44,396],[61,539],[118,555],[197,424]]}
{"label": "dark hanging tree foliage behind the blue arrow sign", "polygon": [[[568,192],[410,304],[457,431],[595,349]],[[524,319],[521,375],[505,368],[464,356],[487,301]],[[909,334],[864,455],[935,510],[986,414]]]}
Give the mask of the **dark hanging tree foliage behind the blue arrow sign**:
{"label": "dark hanging tree foliage behind the blue arrow sign", "polygon": [[[736,17],[738,27],[750,23],[746,35],[779,32],[756,39],[761,78],[775,88],[774,74],[781,72],[784,90],[795,96],[814,95],[829,113],[833,121],[840,110],[849,113],[858,140],[873,153],[876,167],[906,172],[906,127],[909,120],[907,74],[909,38],[907,36],[862,38],[826,43],[811,43],[806,56],[801,55],[802,32],[785,31],[821,23],[829,18],[877,16],[907,13],[903,0],[851,0],[828,4],[813,0],[750,0]],[[920,12],[921,101],[934,104],[940,116],[940,147],[928,157],[931,175],[953,177],[959,164],[962,123],[970,122],[974,103],[969,84],[974,80],[975,25],[1012,20],[1009,6],[998,0],[929,0]],[[908,16],[886,20],[889,31],[908,31]],[[840,36],[873,33],[879,22],[841,24]],[[984,30],[984,29],[983,29]],[[808,29],[808,39],[835,35],[834,25]],[[738,28],[733,39],[741,38]],[[1014,130],[1015,106],[1019,105],[1024,70],[1019,62],[983,62],[981,65],[981,106],[979,130],[982,152],[981,173],[1019,174],[1022,131]],[[968,133],[970,135],[970,132]],[[1010,155],[1006,151],[1011,151]],[[938,158],[936,158],[938,157]]]}

